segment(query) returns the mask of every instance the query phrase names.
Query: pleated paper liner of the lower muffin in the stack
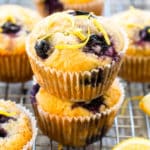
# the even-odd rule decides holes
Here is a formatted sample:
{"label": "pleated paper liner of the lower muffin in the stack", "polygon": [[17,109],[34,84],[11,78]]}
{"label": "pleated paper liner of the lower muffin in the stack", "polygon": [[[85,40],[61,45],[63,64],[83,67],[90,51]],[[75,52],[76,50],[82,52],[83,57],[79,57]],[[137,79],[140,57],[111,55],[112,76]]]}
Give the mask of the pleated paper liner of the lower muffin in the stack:
{"label": "pleated paper liner of the lower muffin in the stack", "polygon": [[50,139],[65,146],[81,147],[101,139],[111,128],[114,118],[124,100],[121,84],[118,103],[104,112],[86,117],[61,117],[45,112],[36,101],[32,101],[35,116],[42,132]]}

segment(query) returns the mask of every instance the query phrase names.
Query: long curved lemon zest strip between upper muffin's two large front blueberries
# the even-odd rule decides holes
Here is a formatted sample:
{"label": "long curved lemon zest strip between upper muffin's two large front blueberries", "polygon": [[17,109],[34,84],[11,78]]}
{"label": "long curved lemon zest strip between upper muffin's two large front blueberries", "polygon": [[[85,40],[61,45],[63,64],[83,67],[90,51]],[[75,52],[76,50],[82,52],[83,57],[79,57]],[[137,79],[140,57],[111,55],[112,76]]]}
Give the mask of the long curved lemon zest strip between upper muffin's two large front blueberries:
{"label": "long curved lemon zest strip between upper muffin's two large front blueberries", "polygon": [[69,44],[56,45],[55,48],[59,49],[59,50],[62,50],[62,49],[79,49],[81,47],[84,47],[87,44],[87,42],[89,41],[89,38],[90,38],[90,28],[88,27],[88,36],[87,36],[87,39],[83,43],[74,44],[74,45],[69,45]]}

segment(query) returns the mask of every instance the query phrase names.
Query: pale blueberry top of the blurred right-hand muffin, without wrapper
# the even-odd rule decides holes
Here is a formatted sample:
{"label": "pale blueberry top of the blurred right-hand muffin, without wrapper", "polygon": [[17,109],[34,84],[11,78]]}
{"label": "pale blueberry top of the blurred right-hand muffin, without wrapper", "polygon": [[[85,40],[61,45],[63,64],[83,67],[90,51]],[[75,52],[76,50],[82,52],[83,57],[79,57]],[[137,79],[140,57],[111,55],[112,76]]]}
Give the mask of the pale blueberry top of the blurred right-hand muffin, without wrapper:
{"label": "pale blueberry top of the blurred right-hand muffin, without wrapper", "polygon": [[112,19],[124,27],[128,35],[127,55],[150,56],[150,11],[131,7]]}

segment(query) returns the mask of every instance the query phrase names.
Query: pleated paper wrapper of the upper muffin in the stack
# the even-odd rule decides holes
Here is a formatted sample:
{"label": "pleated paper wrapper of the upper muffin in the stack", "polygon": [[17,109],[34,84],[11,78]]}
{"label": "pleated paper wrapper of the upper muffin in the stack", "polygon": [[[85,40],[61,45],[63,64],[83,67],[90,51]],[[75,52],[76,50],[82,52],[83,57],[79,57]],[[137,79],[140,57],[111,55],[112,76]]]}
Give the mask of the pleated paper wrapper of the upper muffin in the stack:
{"label": "pleated paper wrapper of the upper muffin in the stack", "polygon": [[[101,96],[108,90],[119,71],[120,62],[114,62],[105,66],[100,72],[102,81],[97,84],[99,69],[85,72],[61,72],[43,66],[29,56],[30,63],[35,74],[36,81],[47,92],[61,99],[69,99],[73,102],[89,101]],[[95,82],[93,83],[93,77]],[[87,80],[87,81],[85,81]],[[88,85],[85,85],[89,82]]]}

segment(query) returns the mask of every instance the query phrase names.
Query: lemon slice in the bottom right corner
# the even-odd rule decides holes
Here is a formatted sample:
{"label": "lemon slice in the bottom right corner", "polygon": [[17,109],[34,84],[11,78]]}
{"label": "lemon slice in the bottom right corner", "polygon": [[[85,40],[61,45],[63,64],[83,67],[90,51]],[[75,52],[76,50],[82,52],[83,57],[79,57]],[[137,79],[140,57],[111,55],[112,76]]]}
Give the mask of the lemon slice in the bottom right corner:
{"label": "lemon slice in the bottom right corner", "polygon": [[134,137],[122,141],[112,150],[150,150],[150,140]]}

